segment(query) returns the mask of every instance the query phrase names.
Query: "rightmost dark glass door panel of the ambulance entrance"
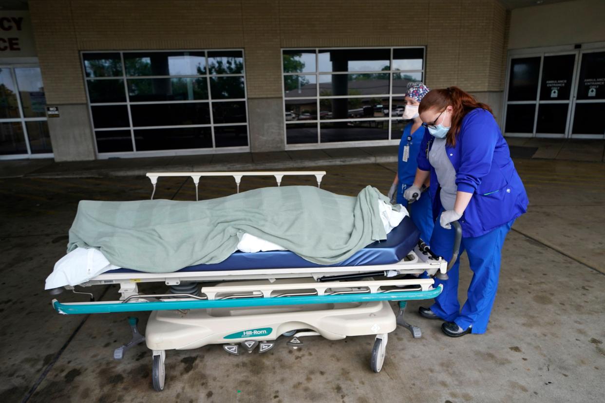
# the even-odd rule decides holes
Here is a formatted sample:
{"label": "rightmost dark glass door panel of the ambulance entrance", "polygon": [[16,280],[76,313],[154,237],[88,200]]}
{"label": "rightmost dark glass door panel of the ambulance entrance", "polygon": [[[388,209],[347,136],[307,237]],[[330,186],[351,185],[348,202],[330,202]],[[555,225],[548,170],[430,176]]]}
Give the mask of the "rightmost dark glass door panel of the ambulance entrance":
{"label": "rightmost dark glass door panel of the ambulance entrance", "polygon": [[574,100],[572,138],[605,138],[605,51],[583,51]]}

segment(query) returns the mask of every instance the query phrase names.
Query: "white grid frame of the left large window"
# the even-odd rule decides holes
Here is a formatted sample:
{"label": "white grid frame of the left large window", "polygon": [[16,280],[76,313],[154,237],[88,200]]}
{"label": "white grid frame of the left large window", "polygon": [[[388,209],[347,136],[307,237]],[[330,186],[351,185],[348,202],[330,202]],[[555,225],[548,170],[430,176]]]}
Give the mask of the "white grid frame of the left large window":
{"label": "white grid frame of the left large window", "polygon": [[[208,66],[208,53],[217,51],[240,51],[242,56],[242,71],[237,74],[209,74]],[[126,65],[124,63],[125,53],[178,53],[178,52],[197,52],[204,53],[206,59],[205,67],[206,71],[204,74],[184,74],[175,76],[126,76]],[[87,77],[86,66],[84,63],[84,55],[88,53],[119,53],[120,62],[122,63],[122,76],[116,77]],[[248,93],[246,83],[246,53],[243,48],[224,48],[224,49],[148,49],[148,50],[98,50],[98,51],[80,51],[80,66],[82,68],[82,77],[84,80],[84,89],[87,98],[88,115],[90,117],[90,127],[93,132],[94,139],[94,151],[97,158],[100,160],[113,158],[116,156],[120,157],[146,157],[146,156],[170,156],[170,155],[196,155],[196,154],[212,154],[212,153],[230,153],[230,152],[246,152],[250,150],[250,118],[248,108]],[[211,94],[211,77],[243,77],[244,81],[244,98],[229,98],[229,99],[212,99]],[[131,102],[128,91],[128,80],[133,79],[174,79],[174,78],[205,78],[206,86],[208,89],[208,98],[205,100],[171,100],[171,101],[143,101],[143,102]],[[90,94],[88,92],[88,81],[90,80],[122,80],[124,85],[126,102],[98,102],[91,103]],[[240,123],[214,123],[212,116],[212,103],[221,102],[244,102],[246,121]],[[210,111],[210,123],[208,124],[177,124],[177,125],[163,125],[163,126],[133,126],[132,125],[132,113],[130,105],[158,105],[158,104],[170,104],[170,103],[208,103]],[[108,105],[125,105],[128,111],[129,127],[103,127],[95,129],[93,123],[93,106],[108,106]],[[246,138],[247,146],[232,146],[232,147],[217,147],[215,141],[214,127],[218,126],[246,126]],[[212,135],[212,147],[206,148],[192,148],[192,149],[163,149],[163,150],[139,150],[137,151],[136,142],[134,138],[134,132],[137,130],[145,129],[174,129],[174,128],[187,128],[187,127],[210,127]],[[120,152],[99,152],[97,147],[97,131],[130,131],[132,141],[132,151],[120,151]]]}

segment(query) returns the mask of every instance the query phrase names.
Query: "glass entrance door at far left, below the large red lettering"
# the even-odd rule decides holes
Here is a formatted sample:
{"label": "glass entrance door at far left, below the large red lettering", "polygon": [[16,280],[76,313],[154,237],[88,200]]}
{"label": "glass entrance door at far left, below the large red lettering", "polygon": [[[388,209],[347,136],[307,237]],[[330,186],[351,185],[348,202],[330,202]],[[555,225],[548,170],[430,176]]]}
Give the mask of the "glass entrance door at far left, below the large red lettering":
{"label": "glass entrance door at far left, below the large red lettering", "polygon": [[53,156],[40,68],[0,66],[0,160]]}

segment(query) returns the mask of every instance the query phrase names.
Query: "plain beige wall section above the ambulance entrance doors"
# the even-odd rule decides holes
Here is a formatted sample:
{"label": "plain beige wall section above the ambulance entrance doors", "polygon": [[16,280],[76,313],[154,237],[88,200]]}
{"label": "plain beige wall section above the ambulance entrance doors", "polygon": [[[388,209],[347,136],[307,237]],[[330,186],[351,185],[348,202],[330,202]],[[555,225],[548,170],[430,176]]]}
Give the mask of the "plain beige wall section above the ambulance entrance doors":
{"label": "plain beige wall section above the ambulance entrance doors", "polygon": [[512,10],[509,49],[605,41],[605,0],[575,0]]}

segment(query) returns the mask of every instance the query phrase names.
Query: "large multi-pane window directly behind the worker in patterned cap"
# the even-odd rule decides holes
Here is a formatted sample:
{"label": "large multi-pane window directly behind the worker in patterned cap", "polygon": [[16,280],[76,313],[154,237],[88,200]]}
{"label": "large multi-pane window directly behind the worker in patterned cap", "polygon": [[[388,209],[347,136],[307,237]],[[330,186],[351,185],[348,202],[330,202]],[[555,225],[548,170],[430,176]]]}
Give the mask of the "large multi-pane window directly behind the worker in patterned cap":
{"label": "large multi-pane window directly behind the worker in patterned cap", "polygon": [[286,144],[401,138],[407,84],[424,48],[284,49]]}

